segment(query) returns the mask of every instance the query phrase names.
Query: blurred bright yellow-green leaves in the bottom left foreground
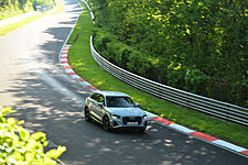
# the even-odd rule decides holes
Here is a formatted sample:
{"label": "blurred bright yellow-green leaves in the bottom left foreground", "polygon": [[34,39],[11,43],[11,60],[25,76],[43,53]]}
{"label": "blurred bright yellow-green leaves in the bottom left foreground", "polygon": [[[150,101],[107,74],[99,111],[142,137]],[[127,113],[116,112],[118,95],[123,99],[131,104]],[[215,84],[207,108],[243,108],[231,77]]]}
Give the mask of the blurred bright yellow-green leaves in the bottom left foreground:
{"label": "blurred bright yellow-green leaves in the bottom left foreground", "polygon": [[50,150],[44,153],[47,145],[46,135],[43,132],[30,134],[22,128],[24,121],[17,121],[13,118],[6,118],[7,114],[14,112],[10,107],[0,107],[0,164],[2,165],[55,165],[53,158],[58,158],[65,146],[57,150]]}

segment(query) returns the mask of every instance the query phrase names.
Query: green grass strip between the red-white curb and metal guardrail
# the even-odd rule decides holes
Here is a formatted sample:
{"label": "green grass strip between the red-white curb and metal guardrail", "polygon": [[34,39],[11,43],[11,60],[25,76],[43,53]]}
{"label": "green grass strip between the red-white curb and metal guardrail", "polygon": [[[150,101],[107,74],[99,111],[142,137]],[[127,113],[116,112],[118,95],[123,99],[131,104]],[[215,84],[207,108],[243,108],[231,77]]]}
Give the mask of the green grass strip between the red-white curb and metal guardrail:
{"label": "green grass strip between the red-white curb and metal guardrail", "polygon": [[[82,3],[82,6],[84,12],[68,41],[68,44],[73,44],[68,53],[68,62],[71,67],[76,70],[80,77],[100,90],[126,92],[130,95],[136,102],[140,102],[142,109],[159,114],[170,121],[248,147],[248,128],[228,123],[155,98],[123,84],[100,69],[91,57],[89,50],[89,38],[93,29],[90,14],[85,4]],[[78,33],[79,37],[77,42],[73,43]]]}

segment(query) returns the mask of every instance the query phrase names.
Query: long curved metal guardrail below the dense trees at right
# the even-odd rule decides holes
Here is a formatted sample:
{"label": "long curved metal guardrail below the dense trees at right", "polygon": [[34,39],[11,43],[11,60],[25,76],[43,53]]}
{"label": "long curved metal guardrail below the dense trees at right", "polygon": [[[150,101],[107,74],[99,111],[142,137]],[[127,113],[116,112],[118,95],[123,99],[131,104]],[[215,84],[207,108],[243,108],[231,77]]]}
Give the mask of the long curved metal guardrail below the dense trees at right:
{"label": "long curved metal guardrail below the dense trees at right", "polygon": [[90,37],[90,51],[94,59],[104,70],[128,85],[176,105],[248,127],[248,109],[246,108],[172,88],[127,72],[109,63],[96,52],[93,36]]}

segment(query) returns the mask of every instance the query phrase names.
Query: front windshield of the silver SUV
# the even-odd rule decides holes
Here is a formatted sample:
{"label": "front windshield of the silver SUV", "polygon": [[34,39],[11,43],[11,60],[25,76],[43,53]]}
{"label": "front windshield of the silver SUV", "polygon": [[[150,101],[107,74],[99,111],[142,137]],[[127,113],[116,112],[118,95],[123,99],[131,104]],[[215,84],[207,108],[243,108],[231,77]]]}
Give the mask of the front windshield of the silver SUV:
{"label": "front windshield of the silver SUV", "polygon": [[106,97],[107,107],[111,108],[131,108],[134,107],[133,101],[129,97]]}

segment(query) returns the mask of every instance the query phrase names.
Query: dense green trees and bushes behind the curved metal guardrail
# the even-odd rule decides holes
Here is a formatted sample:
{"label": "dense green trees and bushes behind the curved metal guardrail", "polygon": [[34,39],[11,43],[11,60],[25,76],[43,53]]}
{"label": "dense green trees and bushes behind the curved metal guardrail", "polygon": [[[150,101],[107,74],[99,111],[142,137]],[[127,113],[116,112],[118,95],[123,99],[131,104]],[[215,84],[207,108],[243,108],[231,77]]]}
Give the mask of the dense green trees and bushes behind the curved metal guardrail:
{"label": "dense green trees and bushes behind the curved metal guardrail", "polygon": [[152,80],[248,107],[248,1],[88,0],[95,46]]}

